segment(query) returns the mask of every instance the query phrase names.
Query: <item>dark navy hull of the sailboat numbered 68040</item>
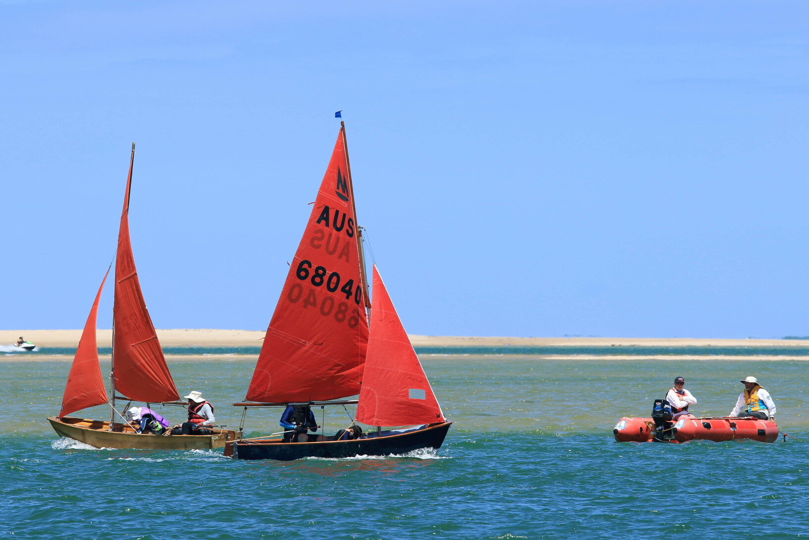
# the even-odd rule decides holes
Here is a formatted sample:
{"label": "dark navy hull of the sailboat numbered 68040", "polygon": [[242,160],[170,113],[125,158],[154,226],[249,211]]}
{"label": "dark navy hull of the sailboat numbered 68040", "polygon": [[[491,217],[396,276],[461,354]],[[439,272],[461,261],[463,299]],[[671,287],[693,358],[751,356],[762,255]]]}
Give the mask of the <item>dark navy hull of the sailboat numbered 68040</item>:
{"label": "dark navy hull of the sailboat numbered 68040", "polygon": [[[396,455],[417,449],[441,448],[451,425],[452,423],[448,421],[430,423],[424,427],[417,426],[382,432],[382,436],[378,436],[376,432],[369,432],[362,438],[353,440],[313,440],[287,443],[283,439],[277,438],[237,439],[227,442],[225,456],[249,460],[291,461],[302,457]],[[385,433],[388,435],[384,435]],[[247,449],[247,451],[239,455],[239,448]]]}

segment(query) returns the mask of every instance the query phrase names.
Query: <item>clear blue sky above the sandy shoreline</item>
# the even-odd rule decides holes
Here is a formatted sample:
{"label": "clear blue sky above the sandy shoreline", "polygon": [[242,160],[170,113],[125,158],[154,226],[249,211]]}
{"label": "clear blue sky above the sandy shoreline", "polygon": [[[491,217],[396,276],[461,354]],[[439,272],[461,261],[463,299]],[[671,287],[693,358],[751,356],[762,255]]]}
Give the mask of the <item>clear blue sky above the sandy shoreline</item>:
{"label": "clear blue sky above the sandy shoreline", "polygon": [[0,328],[82,327],[135,141],[155,325],[265,329],[343,109],[412,334],[809,334],[806,2],[0,12]]}

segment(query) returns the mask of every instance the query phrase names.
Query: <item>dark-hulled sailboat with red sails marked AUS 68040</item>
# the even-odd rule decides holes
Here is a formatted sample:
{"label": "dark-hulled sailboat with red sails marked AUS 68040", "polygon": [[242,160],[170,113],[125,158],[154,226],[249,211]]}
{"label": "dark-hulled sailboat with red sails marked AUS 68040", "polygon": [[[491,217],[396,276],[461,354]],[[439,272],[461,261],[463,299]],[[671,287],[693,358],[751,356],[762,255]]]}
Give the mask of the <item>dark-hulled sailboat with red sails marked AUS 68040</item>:
{"label": "dark-hulled sailboat with red sails marked AUS 68040", "polygon": [[[314,433],[286,441],[272,436],[235,440],[227,443],[226,456],[288,461],[441,448],[451,422],[438,406],[376,266],[373,304],[368,302],[362,229],[357,223],[341,125],[269,323],[247,402],[234,406],[244,406],[246,413],[251,407],[308,411],[311,406],[356,403],[351,427],[364,423],[374,429],[366,427],[364,435],[352,432],[347,440]],[[358,401],[334,401],[357,394]],[[291,414],[291,409],[287,411]],[[296,424],[296,429],[307,431],[310,422]]]}

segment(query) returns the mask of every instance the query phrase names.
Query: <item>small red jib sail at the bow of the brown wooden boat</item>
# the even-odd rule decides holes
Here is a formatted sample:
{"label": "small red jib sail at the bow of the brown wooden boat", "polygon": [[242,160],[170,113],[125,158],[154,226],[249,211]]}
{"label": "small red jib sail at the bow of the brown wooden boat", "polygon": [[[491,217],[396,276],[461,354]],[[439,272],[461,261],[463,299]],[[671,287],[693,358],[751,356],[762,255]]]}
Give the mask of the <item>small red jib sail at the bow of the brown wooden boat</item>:
{"label": "small red jib sail at the bow of the brown wooden boat", "polygon": [[101,291],[107,282],[107,274],[101,281],[95,302],[84,325],[82,337],[78,340],[78,349],[70,366],[70,375],[67,376],[65,396],[61,399],[59,418],[63,418],[77,410],[86,409],[108,402],[107,389],[104,388],[104,376],[101,375],[99,364],[98,340],[95,336],[95,321],[98,319]]}

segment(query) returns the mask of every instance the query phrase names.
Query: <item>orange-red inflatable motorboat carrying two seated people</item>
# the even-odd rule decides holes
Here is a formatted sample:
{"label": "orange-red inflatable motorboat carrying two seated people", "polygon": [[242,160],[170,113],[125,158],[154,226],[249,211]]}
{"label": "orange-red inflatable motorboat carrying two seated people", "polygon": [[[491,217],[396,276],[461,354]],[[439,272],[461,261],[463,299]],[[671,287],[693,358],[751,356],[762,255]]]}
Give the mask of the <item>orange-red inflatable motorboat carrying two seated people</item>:
{"label": "orange-red inflatable motorboat carrying two seated people", "polygon": [[773,443],[778,426],[769,420],[753,418],[693,418],[667,420],[658,428],[651,418],[622,418],[612,434],[618,442],[635,441],[685,443],[689,440],[752,439]]}

